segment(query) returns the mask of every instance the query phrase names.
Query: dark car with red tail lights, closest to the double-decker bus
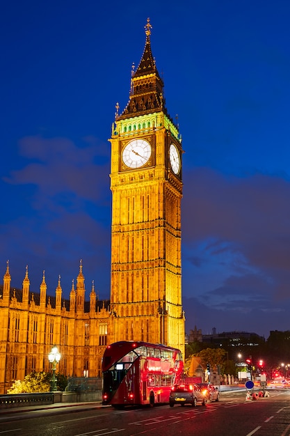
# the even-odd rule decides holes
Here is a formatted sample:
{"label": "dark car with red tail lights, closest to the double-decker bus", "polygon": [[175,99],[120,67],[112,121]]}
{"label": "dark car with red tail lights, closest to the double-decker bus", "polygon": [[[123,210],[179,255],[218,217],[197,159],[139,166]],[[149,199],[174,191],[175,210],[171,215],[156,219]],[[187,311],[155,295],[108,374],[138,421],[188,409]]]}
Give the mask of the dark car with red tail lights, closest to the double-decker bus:
{"label": "dark car with red tail lights, closest to the double-decker bus", "polygon": [[175,384],[172,387],[169,397],[170,407],[175,404],[182,406],[191,404],[195,407],[198,403],[205,405],[205,398],[197,384]]}

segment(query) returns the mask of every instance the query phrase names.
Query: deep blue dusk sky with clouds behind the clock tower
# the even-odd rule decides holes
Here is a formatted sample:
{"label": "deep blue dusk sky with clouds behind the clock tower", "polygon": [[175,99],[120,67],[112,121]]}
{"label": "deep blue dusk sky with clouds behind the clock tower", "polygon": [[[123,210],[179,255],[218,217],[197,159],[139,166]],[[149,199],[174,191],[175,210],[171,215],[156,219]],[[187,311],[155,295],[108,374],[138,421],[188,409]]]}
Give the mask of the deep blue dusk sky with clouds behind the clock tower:
{"label": "deep blue dusk sky with clouds behind the clock tower", "polygon": [[0,276],[69,297],[82,259],[110,297],[108,138],[147,17],[185,152],[186,332],[290,329],[289,0],[3,3]]}

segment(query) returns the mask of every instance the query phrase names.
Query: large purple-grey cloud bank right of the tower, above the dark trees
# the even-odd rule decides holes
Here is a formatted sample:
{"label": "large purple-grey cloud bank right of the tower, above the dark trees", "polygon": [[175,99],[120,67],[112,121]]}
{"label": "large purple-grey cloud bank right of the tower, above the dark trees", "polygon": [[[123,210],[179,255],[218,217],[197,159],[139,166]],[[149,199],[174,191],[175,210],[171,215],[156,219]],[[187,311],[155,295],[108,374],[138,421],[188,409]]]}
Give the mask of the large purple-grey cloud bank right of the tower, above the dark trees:
{"label": "large purple-grey cloud bank right of the tower, above the dark trees", "polygon": [[191,298],[198,302],[207,325],[222,313],[227,325],[235,317],[239,325],[247,314],[261,317],[266,326],[266,313],[280,314],[277,325],[286,325],[290,182],[261,173],[222,176],[207,168],[188,172],[184,179],[185,301],[190,306]]}

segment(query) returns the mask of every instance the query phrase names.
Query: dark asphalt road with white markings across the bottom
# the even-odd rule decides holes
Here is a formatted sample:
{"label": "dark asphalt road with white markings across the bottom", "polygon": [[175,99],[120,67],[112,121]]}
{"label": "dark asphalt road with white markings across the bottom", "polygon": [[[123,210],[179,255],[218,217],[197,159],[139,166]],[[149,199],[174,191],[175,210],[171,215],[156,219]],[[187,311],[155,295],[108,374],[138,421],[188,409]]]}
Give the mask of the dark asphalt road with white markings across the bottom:
{"label": "dark asphalt road with white markings across the bottom", "polygon": [[245,391],[221,393],[220,402],[115,410],[97,403],[0,414],[0,436],[201,435],[289,436],[290,391],[245,400]]}

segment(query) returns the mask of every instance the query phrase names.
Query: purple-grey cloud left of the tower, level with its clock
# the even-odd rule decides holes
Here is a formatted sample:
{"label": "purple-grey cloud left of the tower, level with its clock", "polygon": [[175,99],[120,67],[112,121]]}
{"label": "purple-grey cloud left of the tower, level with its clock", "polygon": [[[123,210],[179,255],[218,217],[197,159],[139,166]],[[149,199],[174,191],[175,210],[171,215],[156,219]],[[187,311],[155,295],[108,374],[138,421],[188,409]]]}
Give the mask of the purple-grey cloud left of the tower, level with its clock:
{"label": "purple-grey cloud left of the tower, level with its clock", "polygon": [[19,154],[26,165],[3,180],[13,185],[35,185],[40,196],[72,192],[97,201],[108,185],[109,150],[92,137],[86,137],[84,143],[78,147],[66,138],[26,137],[19,141]]}

